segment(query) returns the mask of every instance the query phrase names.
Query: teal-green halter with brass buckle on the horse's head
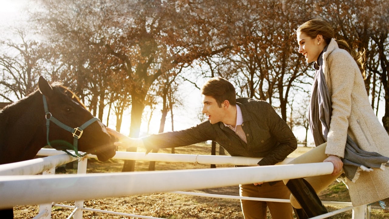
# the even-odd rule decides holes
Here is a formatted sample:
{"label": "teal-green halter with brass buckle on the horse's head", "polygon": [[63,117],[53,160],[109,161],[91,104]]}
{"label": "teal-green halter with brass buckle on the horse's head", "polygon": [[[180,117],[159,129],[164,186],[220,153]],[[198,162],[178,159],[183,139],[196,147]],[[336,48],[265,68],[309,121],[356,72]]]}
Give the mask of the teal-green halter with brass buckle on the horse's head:
{"label": "teal-green halter with brass buckle on the horse's head", "polygon": [[[80,161],[81,158],[84,157],[87,153],[84,153],[82,155],[80,155],[78,153],[77,142],[78,142],[79,138],[81,138],[81,135],[82,135],[82,132],[84,131],[84,129],[86,127],[88,127],[89,125],[91,125],[93,122],[96,122],[98,120],[98,118],[93,117],[90,120],[88,120],[87,122],[85,122],[84,124],[82,124],[80,127],[72,128],[72,127],[70,127],[68,125],[63,124],[62,122],[60,122],[59,120],[57,120],[56,118],[54,118],[51,115],[51,113],[49,112],[49,109],[47,108],[46,97],[45,97],[45,95],[42,95],[42,96],[43,96],[43,106],[44,106],[45,114],[46,114],[47,145],[49,145],[51,147],[50,141],[49,141],[49,129],[50,129],[50,121],[51,121],[54,124],[58,125],[59,127],[65,129],[66,131],[71,132],[73,134],[73,148],[65,148],[65,149],[63,149],[63,151],[66,152],[67,154],[71,155],[72,157],[77,157],[77,160]],[[67,150],[74,150],[76,155],[68,152]]]}

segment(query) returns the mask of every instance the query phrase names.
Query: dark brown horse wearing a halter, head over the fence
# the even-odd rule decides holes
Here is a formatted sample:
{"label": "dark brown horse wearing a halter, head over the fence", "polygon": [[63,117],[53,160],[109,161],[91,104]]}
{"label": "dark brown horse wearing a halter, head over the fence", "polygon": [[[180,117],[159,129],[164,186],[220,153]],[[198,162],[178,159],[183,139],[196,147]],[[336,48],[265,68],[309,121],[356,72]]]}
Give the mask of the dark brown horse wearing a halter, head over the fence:
{"label": "dark brown horse wearing a halter, head over the fence", "polygon": [[[78,150],[95,154],[99,161],[115,155],[115,139],[73,92],[42,76],[38,86],[0,111],[0,164],[33,159],[46,145],[79,157]],[[12,208],[0,210],[0,218],[13,218]]]}

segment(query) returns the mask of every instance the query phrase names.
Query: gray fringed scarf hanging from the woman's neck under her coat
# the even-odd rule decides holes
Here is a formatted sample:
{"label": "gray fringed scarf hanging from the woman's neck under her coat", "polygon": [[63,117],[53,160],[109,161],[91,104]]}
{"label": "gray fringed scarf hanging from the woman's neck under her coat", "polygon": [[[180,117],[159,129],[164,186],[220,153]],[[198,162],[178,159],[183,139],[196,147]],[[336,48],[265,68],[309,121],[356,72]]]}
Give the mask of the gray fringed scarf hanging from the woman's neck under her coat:
{"label": "gray fringed scarf hanging from the woman's neck under her coat", "polygon": [[[323,53],[327,50],[324,49]],[[323,55],[319,56],[318,63],[315,64],[315,77],[310,100],[309,125],[314,137],[315,145],[321,145],[327,141],[329,124],[331,120],[331,96],[322,69]],[[324,128],[324,130],[322,130]],[[376,152],[362,150],[347,134],[345,154],[342,159],[345,176],[352,182],[359,177],[359,171],[373,171],[371,168],[384,169],[388,166],[388,157],[384,157]]]}

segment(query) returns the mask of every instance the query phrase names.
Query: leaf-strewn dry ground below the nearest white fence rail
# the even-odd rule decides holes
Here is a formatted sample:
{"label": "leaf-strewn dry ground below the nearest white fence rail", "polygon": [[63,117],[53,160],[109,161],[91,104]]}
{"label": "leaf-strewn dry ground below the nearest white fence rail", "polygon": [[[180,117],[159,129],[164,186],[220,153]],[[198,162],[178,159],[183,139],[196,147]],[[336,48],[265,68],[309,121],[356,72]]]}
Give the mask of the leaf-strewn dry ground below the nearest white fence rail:
{"label": "leaf-strewn dry ground below the nearest white fence rail", "polygon": [[[342,187],[334,183],[332,186]],[[192,190],[190,192],[224,194],[238,196],[238,187],[221,187],[215,189]],[[329,194],[324,191],[321,195],[322,200],[347,200],[348,194],[340,192],[338,194]],[[74,202],[60,203],[64,205],[74,205]],[[84,201],[84,207],[101,210],[123,212],[134,214],[134,216],[121,216],[113,214],[103,214],[99,212],[84,211],[83,218],[86,219],[135,219],[135,215],[147,217],[159,217],[169,219],[244,219],[240,201],[233,199],[208,198],[200,196],[190,196],[172,193],[156,193],[138,196],[105,198]],[[339,207],[327,206],[328,210],[336,210]],[[389,212],[384,212],[375,204],[372,210],[372,219],[387,219]],[[17,206],[14,207],[15,219],[30,219],[39,212],[39,206]],[[67,218],[72,209],[53,207],[52,219]],[[336,215],[333,219],[350,219],[351,211]],[[272,218],[268,212],[268,219]]]}

